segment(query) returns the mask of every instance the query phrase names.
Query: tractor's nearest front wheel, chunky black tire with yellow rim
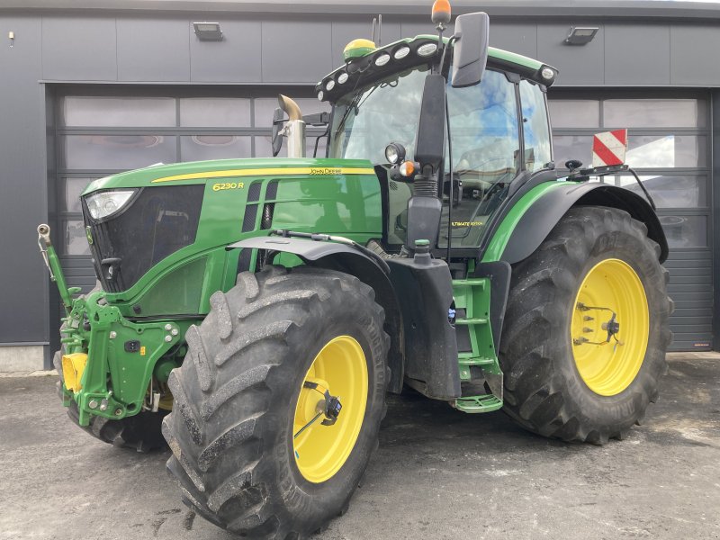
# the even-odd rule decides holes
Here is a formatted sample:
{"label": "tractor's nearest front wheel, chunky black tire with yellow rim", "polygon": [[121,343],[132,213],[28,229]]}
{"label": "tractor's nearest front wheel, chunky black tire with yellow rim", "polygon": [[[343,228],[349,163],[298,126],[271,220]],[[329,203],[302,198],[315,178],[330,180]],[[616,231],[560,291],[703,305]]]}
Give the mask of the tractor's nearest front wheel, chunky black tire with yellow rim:
{"label": "tractor's nearest front wheel, chunky black tire with yellow rim", "polygon": [[[384,414],[383,319],[370,287],[311,267],[242,273],[213,294],[163,423],[185,504],[251,538],[302,538],[343,513]],[[342,403],[333,425],[311,421],[325,390]]]}

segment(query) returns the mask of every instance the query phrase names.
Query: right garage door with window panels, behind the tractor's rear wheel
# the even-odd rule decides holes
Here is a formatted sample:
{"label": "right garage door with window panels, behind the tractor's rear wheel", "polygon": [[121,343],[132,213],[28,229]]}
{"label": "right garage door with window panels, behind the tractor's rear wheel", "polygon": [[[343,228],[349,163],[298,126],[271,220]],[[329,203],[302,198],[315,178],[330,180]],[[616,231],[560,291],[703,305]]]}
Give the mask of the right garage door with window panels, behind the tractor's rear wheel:
{"label": "right garage door with window panels, behind the tractor's rear wheel", "polygon": [[[675,302],[671,350],[709,350],[713,283],[707,97],[647,92],[598,97],[561,89],[550,95],[550,110],[559,167],[570,158],[590,164],[593,133],[629,128],[627,163],[653,196],[670,245],[665,266]],[[630,175],[603,181],[640,193]]]}

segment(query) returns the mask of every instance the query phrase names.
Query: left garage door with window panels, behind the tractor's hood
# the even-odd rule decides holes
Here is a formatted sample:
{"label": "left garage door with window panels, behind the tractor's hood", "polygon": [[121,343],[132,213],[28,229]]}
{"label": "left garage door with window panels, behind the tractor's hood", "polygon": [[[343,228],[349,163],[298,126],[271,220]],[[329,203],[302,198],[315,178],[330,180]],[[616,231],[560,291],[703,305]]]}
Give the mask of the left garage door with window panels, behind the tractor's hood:
{"label": "left garage door with window panels, behind the tractor's hood", "polygon": [[[271,157],[276,95],[272,88],[57,88],[56,243],[68,284],[88,291],[95,283],[78,199],[87,184],[160,162]],[[313,94],[297,88],[293,95]],[[327,110],[314,96],[296,101],[306,114]],[[314,148],[320,133],[308,133]],[[324,155],[324,144],[318,151]]]}

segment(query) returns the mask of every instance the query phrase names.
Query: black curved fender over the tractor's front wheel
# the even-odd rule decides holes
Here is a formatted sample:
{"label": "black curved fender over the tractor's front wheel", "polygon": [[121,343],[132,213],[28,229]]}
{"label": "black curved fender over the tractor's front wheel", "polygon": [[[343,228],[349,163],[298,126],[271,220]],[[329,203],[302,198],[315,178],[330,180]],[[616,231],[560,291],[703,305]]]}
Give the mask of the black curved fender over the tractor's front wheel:
{"label": "black curved fender over the tractor's front wheel", "polygon": [[241,240],[228,248],[267,249],[292,253],[308,266],[338,270],[355,275],[375,292],[375,302],[385,311],[385,331],[390,335],[388,365],[391,369],[388,391],[400,393],[405,376],[405,338],[402,327],[400,304],[395,296],[390,277],[385,268],[362,251],[335,242],[307,240],[303,238],[256,237]]}

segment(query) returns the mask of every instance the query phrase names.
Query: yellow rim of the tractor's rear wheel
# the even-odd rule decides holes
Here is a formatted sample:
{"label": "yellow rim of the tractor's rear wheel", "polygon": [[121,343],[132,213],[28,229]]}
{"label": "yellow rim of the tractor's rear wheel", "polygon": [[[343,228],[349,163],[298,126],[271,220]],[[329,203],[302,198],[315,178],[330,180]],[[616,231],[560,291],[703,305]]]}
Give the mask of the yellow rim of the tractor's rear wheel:
{"label": "yellow rim of the tractor's rear wheel", "polygon": [[614,258],[590,268],[572,306],[570,338],[575,365],[592,392],[614,396],[635,380],[649,330],[647,297],[635,270]]}

